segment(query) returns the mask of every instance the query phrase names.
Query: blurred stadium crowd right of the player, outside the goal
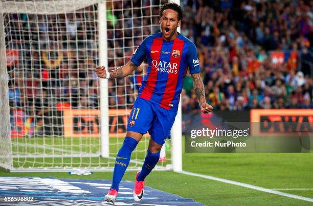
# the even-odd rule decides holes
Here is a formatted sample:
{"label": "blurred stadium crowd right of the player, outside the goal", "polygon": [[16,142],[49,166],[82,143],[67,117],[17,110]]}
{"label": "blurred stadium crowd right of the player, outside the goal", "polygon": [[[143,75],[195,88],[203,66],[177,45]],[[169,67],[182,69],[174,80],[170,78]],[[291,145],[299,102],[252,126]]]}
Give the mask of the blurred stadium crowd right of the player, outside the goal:
{"label": "blurred stadium crowd right of the player, outside the goal", "polygon": [[[198,48],[219,110],[312,109],[312,1],[184,1],[181,33]],[[284,60],[274,55],[284,52]],[[183,110],[197,108],[187,75]]]}

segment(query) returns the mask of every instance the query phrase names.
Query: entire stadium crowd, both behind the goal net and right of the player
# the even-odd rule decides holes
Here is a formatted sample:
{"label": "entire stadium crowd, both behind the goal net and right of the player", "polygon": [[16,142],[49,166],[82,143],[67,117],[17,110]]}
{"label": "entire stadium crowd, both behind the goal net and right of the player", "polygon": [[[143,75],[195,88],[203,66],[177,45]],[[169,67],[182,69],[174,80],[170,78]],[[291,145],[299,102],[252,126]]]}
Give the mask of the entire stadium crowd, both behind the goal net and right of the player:
{"label": "entire stadium crowd, both behind the goal net and right of the player", "polygon": [[[159,7],[140,9],[150,1],[132,1],[135,9],[128,1],[112,4],[114,12],[107,4],[109,69],[125,64],[142,37],[160,29]],[[181,33],[198,49],[206,98],[214,109],[313,108],[312,1],[183,0],[181,5]],[[42,99],[50,98],[53,106],[98,108],[96,9],[5,16],[8,48],[23,51],[23,61],[8,65],[14,106],[36,113]],[[109,81],[110,108],[132,107],[143,68],[136,76]],[[197,109],[188,73],[183,88],[183,111]]]}

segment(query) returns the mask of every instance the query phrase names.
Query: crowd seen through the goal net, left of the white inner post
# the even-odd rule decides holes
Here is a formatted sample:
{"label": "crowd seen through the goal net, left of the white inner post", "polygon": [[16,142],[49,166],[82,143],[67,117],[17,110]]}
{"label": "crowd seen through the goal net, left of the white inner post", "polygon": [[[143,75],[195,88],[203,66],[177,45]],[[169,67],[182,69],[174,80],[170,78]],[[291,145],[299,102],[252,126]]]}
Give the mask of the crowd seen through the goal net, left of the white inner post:
{"label": "crowd seen through the goal net, left of the white inner post", "polygon": [[95,15],[90,6],[75,14],[4,16],[11,108],[42,116],[43,107],[60,104],[98,107]]}

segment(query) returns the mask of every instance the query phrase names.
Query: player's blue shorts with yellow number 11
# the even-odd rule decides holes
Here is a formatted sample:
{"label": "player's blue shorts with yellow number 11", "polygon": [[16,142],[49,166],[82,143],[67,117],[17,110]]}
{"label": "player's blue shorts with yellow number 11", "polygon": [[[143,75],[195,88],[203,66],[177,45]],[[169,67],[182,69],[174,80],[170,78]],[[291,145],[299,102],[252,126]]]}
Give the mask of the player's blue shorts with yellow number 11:
{"label": "player's blue shorts with yellow number 11", "polygon": [[145,134],[163,145],[171,131],[177,112],[170,111],[146,99],[138,97],[133,104],[127,123],[127,131]]}

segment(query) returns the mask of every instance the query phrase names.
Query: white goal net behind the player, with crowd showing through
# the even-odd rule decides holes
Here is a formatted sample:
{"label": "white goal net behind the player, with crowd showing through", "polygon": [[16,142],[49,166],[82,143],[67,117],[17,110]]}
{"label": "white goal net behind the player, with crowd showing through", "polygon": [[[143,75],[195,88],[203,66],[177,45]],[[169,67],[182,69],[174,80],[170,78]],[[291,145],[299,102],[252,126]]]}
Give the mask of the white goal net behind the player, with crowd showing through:
{"label": "white goal net behind the player, with crowd showing through", "polygon": [[[100,80],[94,69],[124,65],[160,31],[166,2],[1,1],[0,167],[113,170],[146,64],[116,80]],[[132,153],[129,170],[141,167],[148,141]],[[166,154],[158,169],[171,163]]]}

